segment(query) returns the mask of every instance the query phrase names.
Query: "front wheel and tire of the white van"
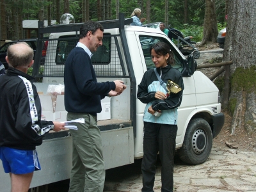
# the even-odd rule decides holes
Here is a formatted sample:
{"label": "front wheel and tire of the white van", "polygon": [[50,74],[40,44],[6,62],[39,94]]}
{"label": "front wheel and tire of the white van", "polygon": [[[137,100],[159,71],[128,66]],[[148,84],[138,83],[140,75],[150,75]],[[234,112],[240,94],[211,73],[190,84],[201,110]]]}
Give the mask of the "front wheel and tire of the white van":
{"label": "front wheel and tire of the white van", "polygon": [[179,157],[188,164],[204,163],[212,149],[212,130],[203,118],[194,118],[189,124],[183,145],[178,150]]}

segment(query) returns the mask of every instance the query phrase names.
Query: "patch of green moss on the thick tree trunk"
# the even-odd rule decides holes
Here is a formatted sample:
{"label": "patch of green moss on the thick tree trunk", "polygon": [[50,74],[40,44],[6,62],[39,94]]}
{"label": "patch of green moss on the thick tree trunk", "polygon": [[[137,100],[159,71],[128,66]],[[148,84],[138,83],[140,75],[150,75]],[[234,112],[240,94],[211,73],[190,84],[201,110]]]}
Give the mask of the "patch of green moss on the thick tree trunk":
{"label": "patch of green moss on the thick tree trunk", "polygon": [[234,90],[241,90],[251,93],[256,86],[256,66],[250,68],[237,68],[231,78],[231,87]]}

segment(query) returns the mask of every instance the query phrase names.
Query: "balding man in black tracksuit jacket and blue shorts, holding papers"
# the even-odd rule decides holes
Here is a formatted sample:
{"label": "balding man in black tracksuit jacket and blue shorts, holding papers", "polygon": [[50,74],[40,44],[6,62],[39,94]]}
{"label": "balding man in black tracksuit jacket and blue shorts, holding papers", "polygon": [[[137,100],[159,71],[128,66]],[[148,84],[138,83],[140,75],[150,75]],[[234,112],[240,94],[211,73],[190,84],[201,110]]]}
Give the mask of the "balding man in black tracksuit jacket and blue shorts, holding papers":
{"label": "balding man in black tracksuit jacket and blue shorts, holding papers", "polygon": [[33,172],[40,170],[36,146],[45,133],[65,129],[65,124],[41,120],[33,77],[26,74],[34,63],[33,49],[24,42],[10,45],[6,61],[11,67],[0,76],[0,159],[10,173],[12,191],[27,192]]}

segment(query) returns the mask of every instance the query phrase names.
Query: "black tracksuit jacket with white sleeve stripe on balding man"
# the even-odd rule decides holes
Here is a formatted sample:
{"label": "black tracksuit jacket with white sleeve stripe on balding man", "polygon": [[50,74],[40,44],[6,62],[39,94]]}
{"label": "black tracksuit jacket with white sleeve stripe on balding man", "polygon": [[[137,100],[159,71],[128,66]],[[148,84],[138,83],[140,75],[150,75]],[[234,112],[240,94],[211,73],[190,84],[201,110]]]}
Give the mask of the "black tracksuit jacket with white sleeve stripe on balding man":
{"label": "black tracksuit jacket with white sleeve stripe on balding man", "polygon": [[0,76],[0,147],[34,150],[42,136],[53,129],[41,120],[41,104],[33,77],[9,68]]}

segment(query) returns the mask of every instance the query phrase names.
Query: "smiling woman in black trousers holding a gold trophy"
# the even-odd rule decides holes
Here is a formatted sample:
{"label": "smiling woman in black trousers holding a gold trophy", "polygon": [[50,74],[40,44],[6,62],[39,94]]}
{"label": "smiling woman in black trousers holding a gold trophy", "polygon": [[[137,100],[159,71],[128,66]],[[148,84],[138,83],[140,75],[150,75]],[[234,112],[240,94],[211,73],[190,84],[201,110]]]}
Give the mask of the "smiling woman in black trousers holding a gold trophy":
{"label": "smiling woman in black trousers holding a gold trophy", "polygon": [[137,97],[147,104],[143,122],[143,188],[153,191],[157,153],[162,163],[161,191],[173,191],[173,157],[177,135],[177,108],[184,90],[182,74],[172,67],[173,54],[168,44],[157,42],[150,48],[156,68],[145,72]]}

